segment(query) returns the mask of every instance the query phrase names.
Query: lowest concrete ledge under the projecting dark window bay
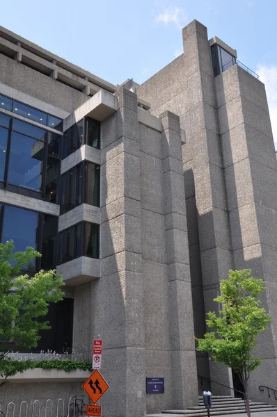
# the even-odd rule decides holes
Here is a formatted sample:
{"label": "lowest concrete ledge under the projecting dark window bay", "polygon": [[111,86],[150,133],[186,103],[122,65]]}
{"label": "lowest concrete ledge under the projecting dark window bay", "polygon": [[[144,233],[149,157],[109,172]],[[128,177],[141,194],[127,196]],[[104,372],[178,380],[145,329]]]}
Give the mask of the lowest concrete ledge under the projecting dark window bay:
{"label": "lowest concrete ledge under the projecting dark window bay", "polygon": [[100,277],[100,259],[80,256],[58,265],[57,272],[63,275],[63,281],[69,286],[86,284]]}

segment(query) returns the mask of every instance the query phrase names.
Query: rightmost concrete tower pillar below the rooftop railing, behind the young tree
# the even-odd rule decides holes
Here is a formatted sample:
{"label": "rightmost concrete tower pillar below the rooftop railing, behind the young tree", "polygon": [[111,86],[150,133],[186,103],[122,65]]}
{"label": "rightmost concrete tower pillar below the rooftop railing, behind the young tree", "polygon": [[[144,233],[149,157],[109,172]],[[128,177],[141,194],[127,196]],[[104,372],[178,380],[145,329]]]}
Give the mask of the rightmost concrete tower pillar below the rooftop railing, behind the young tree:
{"label": "rightmost concrete tower pillar below the rooftop railing, behind the young tree", "polygon": [[236,269],[264,279],[271,326],[255,355],[264,362],[251,377],[251,399],[268,400],[259,385],[277,379],[277,161],[264,85],[237,65],[216,79],[223,167]]}

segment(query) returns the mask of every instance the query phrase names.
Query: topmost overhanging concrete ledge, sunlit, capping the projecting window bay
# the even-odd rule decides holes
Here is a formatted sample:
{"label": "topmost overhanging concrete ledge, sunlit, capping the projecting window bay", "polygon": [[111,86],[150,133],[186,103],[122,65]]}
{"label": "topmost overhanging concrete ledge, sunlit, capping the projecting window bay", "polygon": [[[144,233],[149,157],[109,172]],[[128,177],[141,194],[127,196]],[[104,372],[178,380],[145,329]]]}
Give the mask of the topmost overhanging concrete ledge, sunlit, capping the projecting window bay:
{"label": "topmost overhanging concrete ledge, sunlit, capping the projecting window bay", "polygon": [[64,120],[63,131],[66,131],[85,116],[93,117],[93,119],[102,122],[117,110],[118,100],[116,97],[111,92],[100,90]]}

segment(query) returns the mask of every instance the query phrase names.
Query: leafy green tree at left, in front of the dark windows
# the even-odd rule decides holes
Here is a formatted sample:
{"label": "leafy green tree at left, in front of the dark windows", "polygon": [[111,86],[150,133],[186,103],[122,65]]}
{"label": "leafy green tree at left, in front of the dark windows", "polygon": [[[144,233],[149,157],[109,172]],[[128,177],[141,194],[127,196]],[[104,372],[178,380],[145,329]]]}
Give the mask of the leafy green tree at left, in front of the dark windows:
{"label": "leafy green tree at left, in front of the dark windows", "polygon": [[29,361],[13,363],[10,350],[36,347],[38,332],[51,329],[49,322],[41,320],[49,303],[63,299],[61,275],[55,270],[40,270],[31,278],[21,275],[23,268],[41,255],[32,247],[24,252],[14,249],[13,240],[0,243],[0,375],[4,378],[0,386],[8,377],[29,368]]}

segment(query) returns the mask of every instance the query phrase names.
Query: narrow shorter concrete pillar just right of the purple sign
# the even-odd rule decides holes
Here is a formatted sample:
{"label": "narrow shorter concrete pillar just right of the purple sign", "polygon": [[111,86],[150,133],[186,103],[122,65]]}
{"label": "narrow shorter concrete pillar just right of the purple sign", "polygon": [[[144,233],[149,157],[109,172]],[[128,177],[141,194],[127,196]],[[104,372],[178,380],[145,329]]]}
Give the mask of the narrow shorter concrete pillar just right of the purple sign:
{"label": "narrow shorter concrete pillar just right of the purple sign", "polygon": [[171,112],[160,116],[163,131],[164,215],[173,372],[173,407],[197,404],[196,353],[189,272],[189,246],[184,197],[180,120]]}

